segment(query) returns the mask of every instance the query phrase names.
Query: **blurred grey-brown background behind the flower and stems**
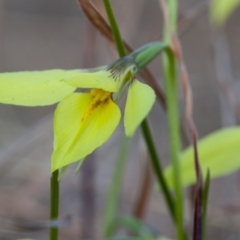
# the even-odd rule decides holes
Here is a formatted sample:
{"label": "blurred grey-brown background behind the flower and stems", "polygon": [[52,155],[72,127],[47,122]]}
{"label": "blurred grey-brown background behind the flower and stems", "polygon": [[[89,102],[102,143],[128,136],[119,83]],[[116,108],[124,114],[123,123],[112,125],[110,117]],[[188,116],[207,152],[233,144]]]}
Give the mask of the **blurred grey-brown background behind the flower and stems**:
{"label": "blurred grey-brown background behind the flower and stems", "polygon": [[[105,15],[101,1],[92,1]],[[162,16],[156,0],[112,0],[124,39],[133,47],[161,40]],[[179,37],[194,97],[200,137],[240,119],[240,10],[217,29],[209,2],[179,1]],[[0,70],[76,69],[105,65],[117,58],[111,44],[91,25],[75,0],[0,0]],[[163,85],[160,58],[149,69]],[[0,105],[0,239],[47,239],[52,116],[56,106]],[[180,94],[180,109],[184,108]],[[166,116],[156,103],[149,121],[163,165],[169,163]],[[111,139],[73,176],[61,181],[60,239],[99,239],[121,123]],[[119,214],[135,212],[145,181],[147,154],[138,131],[122,184]],[[150,174],[151,175],[151,174]],[[145,179],[148,179],[146,180]],[[149,180],[150,179],[150,180]],[[208,239],[240,237],[240,175],[211,182]],[[161,193],[148,184],[142,219],[156,234],[174,238]],[[186,226],[191,231],[191,194],[186,190]],[[119,234],[124,234],[120,231]]]}

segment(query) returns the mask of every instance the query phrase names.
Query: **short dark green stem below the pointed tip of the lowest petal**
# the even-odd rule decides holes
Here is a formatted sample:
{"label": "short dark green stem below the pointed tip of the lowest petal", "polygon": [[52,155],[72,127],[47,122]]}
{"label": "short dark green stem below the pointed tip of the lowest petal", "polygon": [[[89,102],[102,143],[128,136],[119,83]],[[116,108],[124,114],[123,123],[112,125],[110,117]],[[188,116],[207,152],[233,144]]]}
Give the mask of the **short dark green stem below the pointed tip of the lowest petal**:
{"label": "short dark green stem below the pointed tip of the lowest petal", "polygon": [[[59,205],[59,181],[58,170],[54,171],[51,176],[51,200],[50,200],[50,219],[51,221],[58,218],[58,205]],[[58,239],[58,228],[51,227],[49,231],[49,239]]]}

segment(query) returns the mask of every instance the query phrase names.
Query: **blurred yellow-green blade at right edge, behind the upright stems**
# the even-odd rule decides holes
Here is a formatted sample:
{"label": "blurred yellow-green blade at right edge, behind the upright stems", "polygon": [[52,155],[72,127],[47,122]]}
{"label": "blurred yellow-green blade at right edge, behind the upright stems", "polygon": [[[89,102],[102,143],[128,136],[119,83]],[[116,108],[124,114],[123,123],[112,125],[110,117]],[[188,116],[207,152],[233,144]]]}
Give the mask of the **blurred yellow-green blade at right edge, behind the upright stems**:
{"label": "blurred yellow-green blade at right edge, behind the upright stems", "polygon": [[[207,170],[211,177],[228,175],[240,168],[240,127],[218,130],[199,140],[199,160],[204,178]],[[182,173],[182,187],[196,182],[193,148],[187,148],[181,156],[180,169]],[[173,189],[172,165],[165,170],[166,181]]]}

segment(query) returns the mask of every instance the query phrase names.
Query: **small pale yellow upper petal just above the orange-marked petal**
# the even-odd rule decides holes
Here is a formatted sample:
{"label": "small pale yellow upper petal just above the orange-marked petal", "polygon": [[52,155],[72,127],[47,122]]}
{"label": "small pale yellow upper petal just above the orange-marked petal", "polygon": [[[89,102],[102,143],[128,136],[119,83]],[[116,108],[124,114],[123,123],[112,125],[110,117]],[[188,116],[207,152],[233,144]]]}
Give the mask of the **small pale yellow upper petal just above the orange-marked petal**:
{"label": "small pale yellow upper petal just above the orange-marked petal", "polygon": [[122,84],[121,79],[114,78],[107,70],[80,73],[65,82],[77,88],[99,88],[109,92],[117,92]]}

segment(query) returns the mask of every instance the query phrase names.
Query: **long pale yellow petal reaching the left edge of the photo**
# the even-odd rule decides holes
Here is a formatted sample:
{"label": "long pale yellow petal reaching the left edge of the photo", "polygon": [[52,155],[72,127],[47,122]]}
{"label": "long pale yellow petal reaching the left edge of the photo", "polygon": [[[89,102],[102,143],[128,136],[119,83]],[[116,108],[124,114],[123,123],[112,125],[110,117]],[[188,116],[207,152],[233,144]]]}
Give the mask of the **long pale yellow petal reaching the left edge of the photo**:
{"label": "long pale yellow petal reaching the left edge of the photo", "polygon": [[43,106],[59,102],[75,87],[62,80],[79,70],[46,70],[0,73],[0,102],[23,106]]}

